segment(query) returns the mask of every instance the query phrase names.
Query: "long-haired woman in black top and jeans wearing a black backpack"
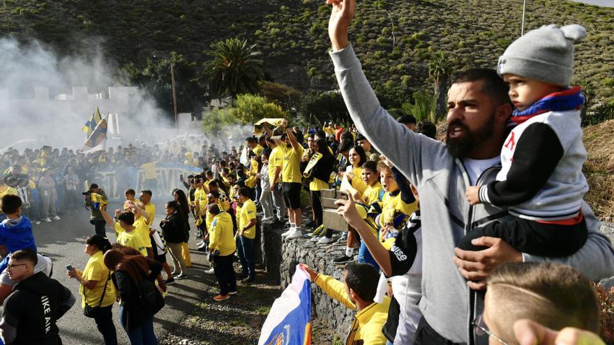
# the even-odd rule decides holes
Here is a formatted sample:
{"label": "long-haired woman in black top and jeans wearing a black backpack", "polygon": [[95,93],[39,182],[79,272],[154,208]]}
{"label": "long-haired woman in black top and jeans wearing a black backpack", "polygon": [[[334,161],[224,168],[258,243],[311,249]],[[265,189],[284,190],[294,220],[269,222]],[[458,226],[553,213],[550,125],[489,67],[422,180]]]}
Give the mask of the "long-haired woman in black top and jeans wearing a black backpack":
{"label": "long-haired woman in black top and jeans wearing a black backpack", "polygon": [[153,332],[153,314],[142,307],[139,287],[153,284],[160,275],[162,264],[142,255],[122,254],[118,250],[107,251],[104,261],[107,268],[114,271],[111,277],[119,294],[119,321],[130,344],[158,344]]}

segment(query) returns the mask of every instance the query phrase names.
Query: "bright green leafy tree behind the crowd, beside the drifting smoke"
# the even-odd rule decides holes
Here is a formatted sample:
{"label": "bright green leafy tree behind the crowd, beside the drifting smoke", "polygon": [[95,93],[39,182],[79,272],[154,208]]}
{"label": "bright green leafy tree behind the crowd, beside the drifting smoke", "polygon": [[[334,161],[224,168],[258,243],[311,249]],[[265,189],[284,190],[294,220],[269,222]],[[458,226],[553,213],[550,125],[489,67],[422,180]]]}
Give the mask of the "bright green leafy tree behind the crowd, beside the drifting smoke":
{"label": "bright green leafy tree behind the crowd, beside the drifting smoke", "polygon": [[259,95],[238,95],[237,100],[230,108],[232,121],[246,125],[253,125],[261,118],[283,118],[287,116],[279,105],[267,102]]}

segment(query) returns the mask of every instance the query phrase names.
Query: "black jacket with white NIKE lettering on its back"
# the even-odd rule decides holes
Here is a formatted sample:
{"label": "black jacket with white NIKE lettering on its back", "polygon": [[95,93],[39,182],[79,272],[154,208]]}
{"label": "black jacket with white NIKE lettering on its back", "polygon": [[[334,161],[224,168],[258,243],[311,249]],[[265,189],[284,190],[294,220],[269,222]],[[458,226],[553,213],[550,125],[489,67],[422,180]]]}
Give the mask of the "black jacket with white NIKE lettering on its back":
{"label": "black jacket with white NIKE lettering on its back", "polygon": [[70,290],[45,273],[22,280],[4,302],[1,328],[6,344],[61,344],[56,321],[74,304]]}

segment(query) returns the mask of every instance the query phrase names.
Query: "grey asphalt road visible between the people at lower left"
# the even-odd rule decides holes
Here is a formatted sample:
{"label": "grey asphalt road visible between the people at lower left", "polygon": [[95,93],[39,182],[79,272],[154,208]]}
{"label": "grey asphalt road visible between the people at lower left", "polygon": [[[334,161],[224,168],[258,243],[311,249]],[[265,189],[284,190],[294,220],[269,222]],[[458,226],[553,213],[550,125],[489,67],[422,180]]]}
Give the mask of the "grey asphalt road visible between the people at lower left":
{"label": "grey asphalt road visible between the people at lower left", "polygon": [[[154,204],[157,206],[158,213],[162,213],[164,210],[163,202],[156,202]],[[116,207],[119,208],[119,206],[119,204],[111,205],[109,208],[114,209]],[[93,233],[93,225],[89,224],[89,211],[84,209],[80,213],[62,215],[61,217],[61,220],[50,223],[43,222],[40,225],[33,226],[38,250],[50,256],[54,263],[52,277],[59,280],[64,286],[67,286],[70,291],[73,291],[77,298],[75,306],[59,320],[60,336],[63,344],[66,345],[103,344],[102,335],[96,329],[96,323],[94,323],[93,319],[83,315],[79,283],[75,279],[69,279],[66,276],[66,265],[68,263],[83,269],[89,258],[84,253],[85,238]],[[157,214],[156,220],[153,222],[156,227],[160,219],[160,214]],[[107,236],[111,242],[114,242],[115,235],[111,228],[107,228]],[[195,243],[196,240],[190,238],[190,248],[195,248]],[[193,309],[193,305],[196,302],[200,302],[202,298],[211,297],[204,290],[206,288],[205,284],[212,284],[214,282],[214,276],[204,275],[202,272],[204,262],[206,262],[204,255],[196,250],[191,250],[191,257],[193,266],[188,269],[189,278],[169,286],[169,294],[165,300],[166,307],[154,319],[154,328],[158,336],[177,327],[179,321],[186,312],[190,312]],[[167,259],[170,259],[170,257]],[[163,274],[163,276],[165,275]],[[118,318],[119,304],[116,303],[113,308],[113,319],[117,328],[118,341],[119,344],[129,344],[126,332],[119,325]]]}

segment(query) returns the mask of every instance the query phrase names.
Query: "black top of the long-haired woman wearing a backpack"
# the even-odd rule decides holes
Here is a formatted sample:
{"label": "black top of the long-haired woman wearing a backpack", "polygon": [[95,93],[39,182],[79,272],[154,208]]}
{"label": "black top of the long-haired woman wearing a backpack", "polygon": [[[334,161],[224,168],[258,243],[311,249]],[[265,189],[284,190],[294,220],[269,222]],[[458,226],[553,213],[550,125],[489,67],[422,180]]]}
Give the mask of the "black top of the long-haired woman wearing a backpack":
{"label": "black top of the long-haired woman wearing a backpack", "polygon": [[[149,261],[149,269],[151,272],[149,276],[144,279],[148,279],[150,282],[156,280],[156,277],[160,275],[162,265],[156,261]],[[151,315],[143,312],[140,307],[140,298],[137,284],[132,277],[126,273],[125,270],[117,270],[111,275],[115,289],[119,292],[119,298],[121,298],[121,306],[123,307],[123,314],[121,316],[121,325],[133,330],[140,325]]]}

